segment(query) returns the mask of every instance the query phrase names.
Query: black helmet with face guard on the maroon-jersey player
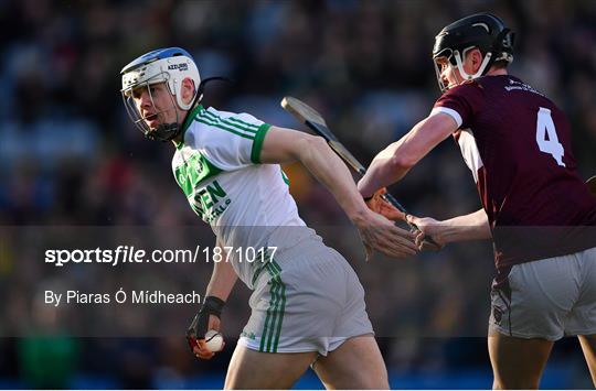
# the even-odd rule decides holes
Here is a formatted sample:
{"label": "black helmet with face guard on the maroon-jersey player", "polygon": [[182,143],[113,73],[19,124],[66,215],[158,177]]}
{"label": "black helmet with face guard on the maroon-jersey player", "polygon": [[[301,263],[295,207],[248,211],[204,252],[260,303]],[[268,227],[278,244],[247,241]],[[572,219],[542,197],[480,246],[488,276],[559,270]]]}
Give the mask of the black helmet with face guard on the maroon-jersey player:
{"label": "black helmet with face guard on the maroon-jersey player", "polygon": [[[440,70],[436,64],[438,57],[446,57],[459,68],[465,78],[472,79],[485,75],[497,61],[513,61],[514,33],[503,21],[487,12],[476,13],[460,19],[444,28],[435,37],[433,59],[441,90],[446,89],[440,80]],[[478,47],[485,59],[475,75],[464,72],[464,57],[468,48]]]}

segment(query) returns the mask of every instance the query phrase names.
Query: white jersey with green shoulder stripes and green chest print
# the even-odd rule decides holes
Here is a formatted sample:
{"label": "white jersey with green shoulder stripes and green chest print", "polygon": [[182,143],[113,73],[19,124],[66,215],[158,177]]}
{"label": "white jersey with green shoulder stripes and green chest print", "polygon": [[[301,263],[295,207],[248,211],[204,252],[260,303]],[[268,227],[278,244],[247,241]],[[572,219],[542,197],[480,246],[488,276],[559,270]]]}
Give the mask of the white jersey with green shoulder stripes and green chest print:
{"label": "white jersey with green shoulder stripes and green chest print", "polygon": [[306,225],[281,167],[260,164],[269,127],[247,113],[198,106],[183,124],[183,142],[172,159],[175,181],[190,206],[223,246],[233,249],[230,261],[248,287],[263,257],[248,262],[247,252],[288,247],[305,232],[313,235],[310,229],[286,229],[280,235],[285,227]]}

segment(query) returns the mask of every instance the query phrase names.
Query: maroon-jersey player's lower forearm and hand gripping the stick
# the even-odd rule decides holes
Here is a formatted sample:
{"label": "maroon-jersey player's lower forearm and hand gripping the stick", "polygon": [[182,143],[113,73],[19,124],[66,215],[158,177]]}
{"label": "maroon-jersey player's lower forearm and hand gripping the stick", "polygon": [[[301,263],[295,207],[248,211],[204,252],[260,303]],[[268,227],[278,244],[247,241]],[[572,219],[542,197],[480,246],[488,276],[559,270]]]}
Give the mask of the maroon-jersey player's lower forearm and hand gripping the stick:
{"label": "maroon-jersey player's lower forearm and hand gripping the stick", "polygon": [[[419,229],[416,237],[416,245],[421,250],[426,250],[427,248],[425,246],[432,246],[423,242],[425,236],[432,236],[439,248],[455,241],[483,240],[492,237],[485,209],[443,221],[435,220],[430,217],[416,217],[412,215],[407,216],[407,220],[415,224]],[[433,248],[433,250],[437,249]]]}

